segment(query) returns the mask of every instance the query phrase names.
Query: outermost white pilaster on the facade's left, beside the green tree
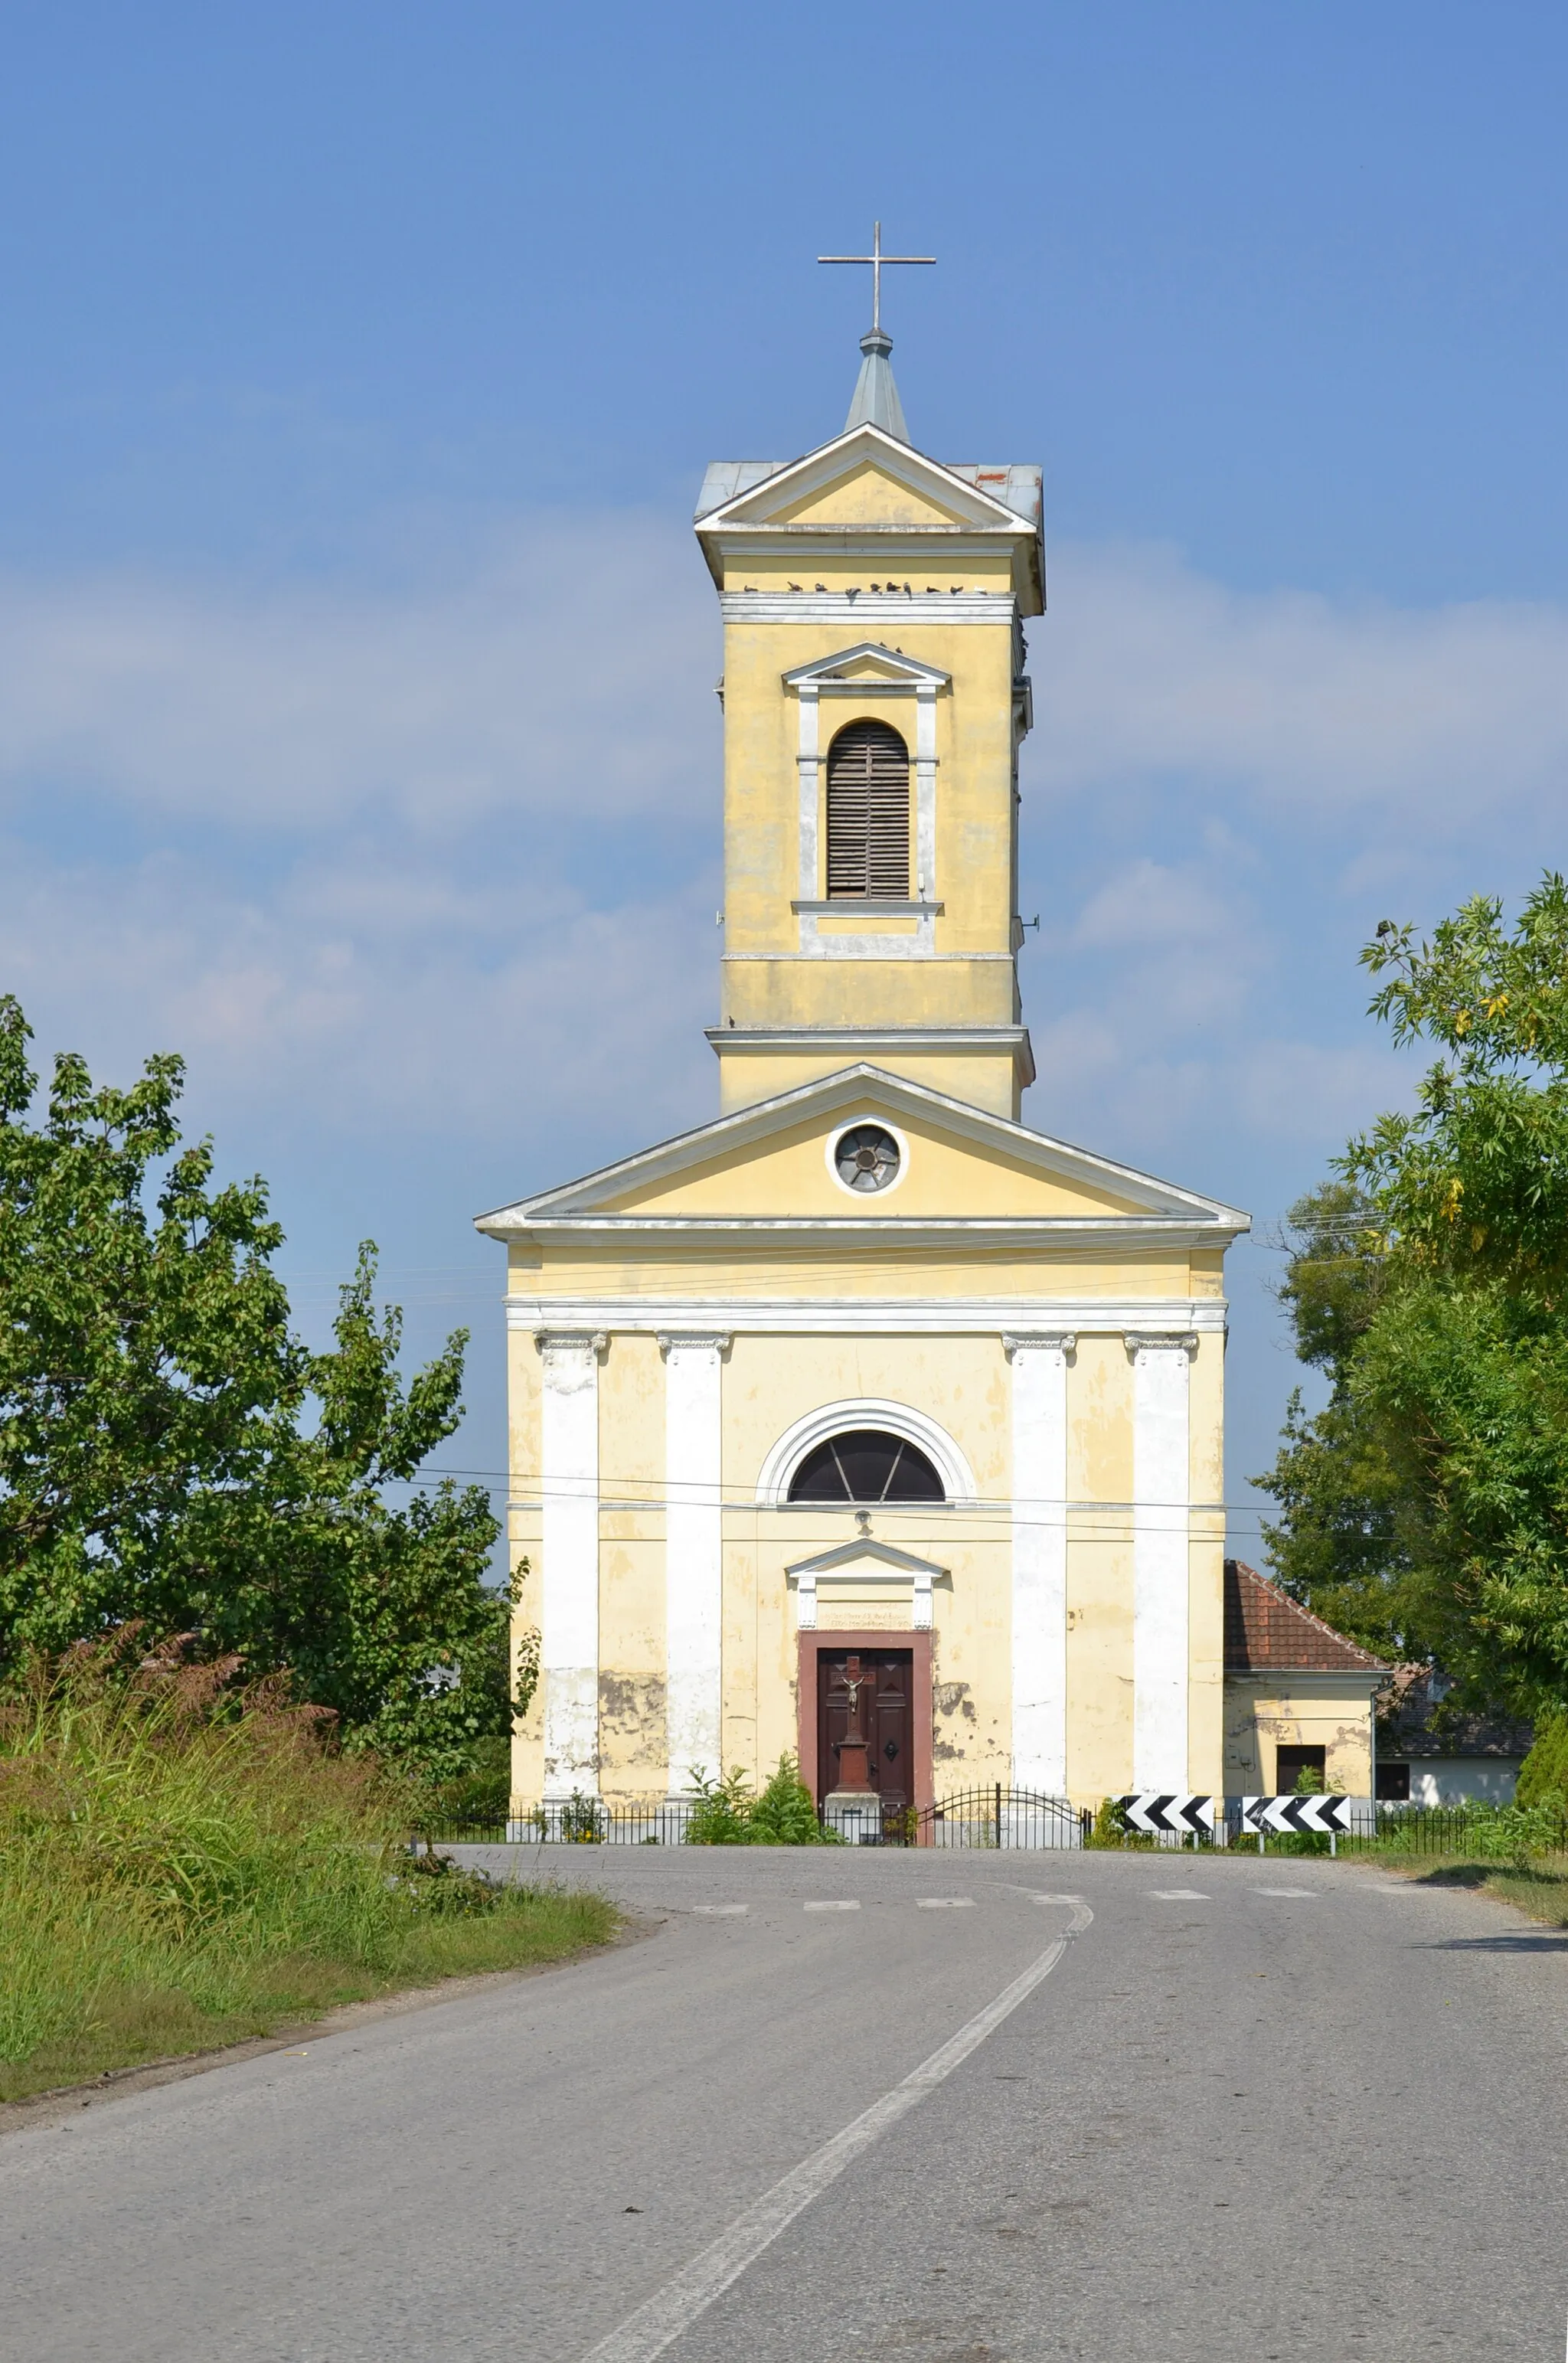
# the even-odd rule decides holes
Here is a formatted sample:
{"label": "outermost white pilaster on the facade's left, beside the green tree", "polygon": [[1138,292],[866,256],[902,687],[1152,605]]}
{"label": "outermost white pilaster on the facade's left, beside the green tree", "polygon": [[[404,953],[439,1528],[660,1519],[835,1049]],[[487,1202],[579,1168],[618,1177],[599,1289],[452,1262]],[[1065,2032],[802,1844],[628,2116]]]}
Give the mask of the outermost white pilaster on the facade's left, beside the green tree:
{"label": "outermost white pilaster on the facade's left, beside the green tree", "polygon": [[541,1399],[541,1682],[545,1796],[600,1786],[602,1330],[536,1330]]}

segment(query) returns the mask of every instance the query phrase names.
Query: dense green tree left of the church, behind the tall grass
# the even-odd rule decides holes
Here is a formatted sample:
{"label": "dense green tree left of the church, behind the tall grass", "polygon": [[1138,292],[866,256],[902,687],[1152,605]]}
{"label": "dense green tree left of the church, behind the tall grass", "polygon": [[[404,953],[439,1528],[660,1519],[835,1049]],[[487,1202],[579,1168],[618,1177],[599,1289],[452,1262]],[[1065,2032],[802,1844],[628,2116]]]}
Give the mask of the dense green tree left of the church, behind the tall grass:
{"label": "dense green tree left of the church, behind the tall grass", "polygon": [[366,1245],[312,1354],[264,1184],[179,1137],[182,1061],[120,1092],[61,1056],[33,1120],[28,1042],[0,997],[0,1671],[142,1621],[465,1770],[512,1704],[496,1519],[477,1486],[387,1501],[458,1425],[465,1333],[404,1385]]}

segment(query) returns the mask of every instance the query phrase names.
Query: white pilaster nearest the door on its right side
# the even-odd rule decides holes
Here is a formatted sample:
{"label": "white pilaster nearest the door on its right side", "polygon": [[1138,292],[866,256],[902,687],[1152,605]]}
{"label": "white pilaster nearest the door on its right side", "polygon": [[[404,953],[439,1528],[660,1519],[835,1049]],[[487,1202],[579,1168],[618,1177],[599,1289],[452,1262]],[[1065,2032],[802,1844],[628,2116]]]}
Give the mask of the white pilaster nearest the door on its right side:
{"label": "white pilaster nearest the door on its right side", "polygon": [[1067,1330],[1013,1363],[1013,1786],[1067,1794]]}

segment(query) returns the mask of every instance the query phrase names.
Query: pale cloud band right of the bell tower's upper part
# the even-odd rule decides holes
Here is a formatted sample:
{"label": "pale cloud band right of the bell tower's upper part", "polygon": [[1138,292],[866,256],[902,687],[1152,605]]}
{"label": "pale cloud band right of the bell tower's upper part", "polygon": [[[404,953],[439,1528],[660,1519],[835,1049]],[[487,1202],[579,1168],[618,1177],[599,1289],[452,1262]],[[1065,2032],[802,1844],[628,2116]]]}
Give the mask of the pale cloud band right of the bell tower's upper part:
{"label": "pale cloud band right of the bell tower's upper part", "polygon": [[1469,834],[1568,782],[1568,612],[1242,593],[1169,551],[1053,551],[1037,775],[1197,775],[1270,806]]}

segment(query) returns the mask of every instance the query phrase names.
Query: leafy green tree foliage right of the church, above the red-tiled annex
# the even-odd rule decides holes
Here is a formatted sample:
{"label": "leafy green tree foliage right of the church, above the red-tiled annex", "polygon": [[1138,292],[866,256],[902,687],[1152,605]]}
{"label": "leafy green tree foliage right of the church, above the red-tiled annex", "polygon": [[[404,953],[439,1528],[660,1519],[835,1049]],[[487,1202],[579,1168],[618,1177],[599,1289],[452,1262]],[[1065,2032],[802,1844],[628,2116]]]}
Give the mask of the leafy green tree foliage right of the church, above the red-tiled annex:
{"label": "leafy green tree foliage right of the church, above the red-tiled annex", "polygon": [[1492,898],[1429,943],[1384,926],[1363,962],[1440,1056],[1292,1210],[1282,1297],[1329,1401],[1292,1401],[1266,1536],[1318,1614],[1533,1711],[1568,1699],[1568,891],[1514,929]]}

